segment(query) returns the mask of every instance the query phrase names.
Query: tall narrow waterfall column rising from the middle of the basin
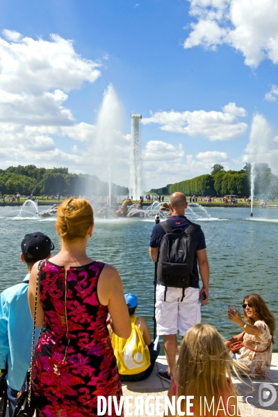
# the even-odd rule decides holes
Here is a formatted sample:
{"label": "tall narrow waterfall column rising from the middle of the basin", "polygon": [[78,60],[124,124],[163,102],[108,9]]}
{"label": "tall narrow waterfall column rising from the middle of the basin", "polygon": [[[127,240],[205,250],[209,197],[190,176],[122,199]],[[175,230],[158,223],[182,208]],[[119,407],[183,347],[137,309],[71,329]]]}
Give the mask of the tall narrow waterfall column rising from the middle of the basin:
{"label": "tall narrow waterfall column rising from the middle of the basin", "polygon": [[140,154],[140,120],[142,115],[131,115],[131,158],[129,195],[139,199],[142,193],[142,167]]}

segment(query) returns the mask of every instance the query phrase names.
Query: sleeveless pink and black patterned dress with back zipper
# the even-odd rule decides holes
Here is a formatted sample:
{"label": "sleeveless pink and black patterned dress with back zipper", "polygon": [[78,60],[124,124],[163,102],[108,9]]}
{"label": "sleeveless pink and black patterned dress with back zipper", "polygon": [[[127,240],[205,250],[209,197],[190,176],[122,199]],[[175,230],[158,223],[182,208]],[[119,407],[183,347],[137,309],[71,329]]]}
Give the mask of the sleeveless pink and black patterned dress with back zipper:
{"label": "sleeveless pink and black patterned dress with back zipper", "polygon": [[108,309],[97,297],[103,268],[101,262],[68,270],[48,260],[42,263],[45,329],[35,347],[32,370],[40,417],[97,416],[98,395],[115,395],[120,402],[122,386],[106,326]]}

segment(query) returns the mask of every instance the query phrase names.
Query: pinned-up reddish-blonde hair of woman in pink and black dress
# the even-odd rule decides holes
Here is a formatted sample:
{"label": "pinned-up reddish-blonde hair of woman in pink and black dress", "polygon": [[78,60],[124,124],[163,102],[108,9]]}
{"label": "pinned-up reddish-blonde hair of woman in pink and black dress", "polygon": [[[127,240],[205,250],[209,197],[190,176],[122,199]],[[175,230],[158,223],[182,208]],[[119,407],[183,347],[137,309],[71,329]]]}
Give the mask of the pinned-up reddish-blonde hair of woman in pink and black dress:
{"label": "pinned-up reddish-blonde hair of woman in pink and black dress", "polygon": [[56,224],[62,239],[85,238],[93,222],[92,206],[85,198],[70,197],[58,207]]}

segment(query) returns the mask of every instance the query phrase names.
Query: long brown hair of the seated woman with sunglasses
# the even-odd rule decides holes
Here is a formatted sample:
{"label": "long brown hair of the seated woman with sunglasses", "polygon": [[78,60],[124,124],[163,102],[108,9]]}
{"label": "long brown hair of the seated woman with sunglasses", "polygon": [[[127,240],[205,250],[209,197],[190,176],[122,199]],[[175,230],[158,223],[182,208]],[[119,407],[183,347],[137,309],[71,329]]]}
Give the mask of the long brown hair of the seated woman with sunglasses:
{"label": "long brown hair of the seated woman with sunglasses", "polygon": [[[272,343],[275,343],[275,341],[273,340],[275,327],[276,327],[275,316],[273,316],[270,309],[268,309],[268,306],[266,305],[265,300],[263,300],[261,295],[256,294],[256,293],[251,293],[251,294],[245,295],[245,297],[243,298],[243,304],[245,303],[245,301],[248,304],[255,307],[259,320],[263,320],[265,324],[268,325],[270,329],[270,334],[272,336]],[[245,313],[245,309],[243,310],[243,316],[245,320],[249,322],[249,324],[252,326],[254,325],[254,322],[257,320],[257,319],[254,320],[253,318],[248,317],[247,314]]]}

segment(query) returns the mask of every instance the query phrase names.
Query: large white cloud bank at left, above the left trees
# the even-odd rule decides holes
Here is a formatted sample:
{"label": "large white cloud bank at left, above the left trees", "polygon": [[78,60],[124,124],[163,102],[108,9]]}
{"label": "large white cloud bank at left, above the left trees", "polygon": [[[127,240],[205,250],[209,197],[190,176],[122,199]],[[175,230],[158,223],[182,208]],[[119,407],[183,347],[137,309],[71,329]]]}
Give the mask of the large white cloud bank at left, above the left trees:
{"label": "large white cloud bank at left, above the left trees", "polygon": [[[70,90],[99,76],[99,63],[79,56],[73,42],[59,35],[49,41],[22,38],[4,30],[0,38],[0,149],[1,167],[35,163],[38,166],[69,166],[90,171],[94,158],[84,146],[58,149],[60,136],[83,142],[94,140],[95,126],[74,123],[64,107]],[[19,162],[18,162],[19,161]],[[8,166],[9,166],[8,165]]]}

